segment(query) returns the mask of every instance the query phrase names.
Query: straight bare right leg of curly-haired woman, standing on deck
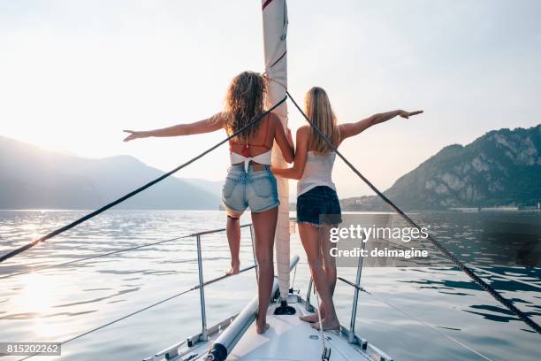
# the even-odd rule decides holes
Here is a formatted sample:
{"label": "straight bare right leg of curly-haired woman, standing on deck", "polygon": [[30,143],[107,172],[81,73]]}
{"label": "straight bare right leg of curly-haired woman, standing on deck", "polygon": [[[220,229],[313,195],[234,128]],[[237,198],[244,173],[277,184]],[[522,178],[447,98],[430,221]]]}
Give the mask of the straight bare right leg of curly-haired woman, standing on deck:
{"label": "straight bare right leg of curly-haired woman, standing on deck", "polygon": [[263,334],[268,328],[267,309],[270,303],[270,293],[274,283],[274,234],[278,220],[278,207],[269,211],[252,212],[255,234],[255,258],[257,259],[257,292],[259,308],[257,311],[256,329]]}

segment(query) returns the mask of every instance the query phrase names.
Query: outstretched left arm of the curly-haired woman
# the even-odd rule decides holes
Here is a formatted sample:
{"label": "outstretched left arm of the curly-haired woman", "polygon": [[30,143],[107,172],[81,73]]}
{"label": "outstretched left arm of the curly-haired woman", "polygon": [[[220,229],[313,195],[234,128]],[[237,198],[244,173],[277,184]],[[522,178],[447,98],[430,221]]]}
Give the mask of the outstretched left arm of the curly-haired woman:
{"label": "outstretched left arm of the curly-haired woman", "polygon": [[150,136],[164,137],[210,133],[221,129],[222,127],[224,127],[224,121],[221,118],[220,113],[218,113],[208,119],[202,119],[195,121],[194,123],[179,124],[172,127],[146,131],[125,130],[129,135],[126,136],[124,142],[133,141],[134,139],[139,138],[148,138]]}

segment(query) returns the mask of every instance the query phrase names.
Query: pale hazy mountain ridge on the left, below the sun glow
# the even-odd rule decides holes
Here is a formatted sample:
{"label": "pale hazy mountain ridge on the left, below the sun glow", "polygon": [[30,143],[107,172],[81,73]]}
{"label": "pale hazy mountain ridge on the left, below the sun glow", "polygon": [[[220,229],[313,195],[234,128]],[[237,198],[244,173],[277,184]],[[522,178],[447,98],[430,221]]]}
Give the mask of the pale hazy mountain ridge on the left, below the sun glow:
{"label": "pale hazy mountain ridge on the left, below the sun glow", "polygon": [[[73,157],[0,136],[0,209],[94,209],[162,174],[134,157]],[[116,208],[217,210],[220,203],[171,176]]]}

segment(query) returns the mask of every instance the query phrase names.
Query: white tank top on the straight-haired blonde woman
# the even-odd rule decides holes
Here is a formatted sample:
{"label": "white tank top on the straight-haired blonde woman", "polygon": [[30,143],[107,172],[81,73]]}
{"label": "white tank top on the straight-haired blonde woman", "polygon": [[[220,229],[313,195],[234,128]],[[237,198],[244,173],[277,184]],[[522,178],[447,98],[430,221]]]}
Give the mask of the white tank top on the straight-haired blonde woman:
{"label": "white tank top on the straight-haired blonde woman", "polygon": [[308,192],[318,186],[326,186],[336,190],[332,182],[332,165],[334,165],[336,153],[330,151],[321,156],[314,151],[309,151],[304,166],[304,173],[297,183],[297,196]]}

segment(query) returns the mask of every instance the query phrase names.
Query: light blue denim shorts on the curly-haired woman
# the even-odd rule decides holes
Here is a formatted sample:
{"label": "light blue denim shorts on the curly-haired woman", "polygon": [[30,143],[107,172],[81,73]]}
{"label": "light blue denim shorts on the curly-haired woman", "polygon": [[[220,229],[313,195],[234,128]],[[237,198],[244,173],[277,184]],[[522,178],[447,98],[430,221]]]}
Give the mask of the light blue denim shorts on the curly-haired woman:
{"label": "light blue denim shorts on the curly-haired woman", "polygon": [[246,173],[244,165],[232,165],[222,188],[222,200],[226,210],[234,213],[242,213],[248,207],[253,212],[278,207],[278,186],[270,166],[254,171],[250,165]]}

